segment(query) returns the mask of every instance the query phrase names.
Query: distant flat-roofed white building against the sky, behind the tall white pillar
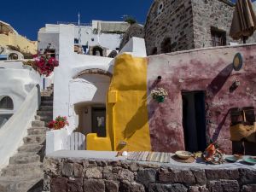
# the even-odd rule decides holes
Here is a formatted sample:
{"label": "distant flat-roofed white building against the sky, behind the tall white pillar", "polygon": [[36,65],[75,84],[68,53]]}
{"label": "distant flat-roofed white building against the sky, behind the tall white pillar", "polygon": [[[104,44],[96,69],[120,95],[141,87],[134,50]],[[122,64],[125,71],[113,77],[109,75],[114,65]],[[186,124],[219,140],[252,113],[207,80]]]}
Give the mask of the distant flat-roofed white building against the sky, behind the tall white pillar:
{"label": "distant flat-roofed white building against the sky, behind the tall white pillar", "polygon": [[119,52],[119,44],[130,24],[122,21],[92,20],[91,24],[46,24],[38,32],[38,50],[59,55],[60,24],[74,26],[74,51],[84,55],[113,57]]}

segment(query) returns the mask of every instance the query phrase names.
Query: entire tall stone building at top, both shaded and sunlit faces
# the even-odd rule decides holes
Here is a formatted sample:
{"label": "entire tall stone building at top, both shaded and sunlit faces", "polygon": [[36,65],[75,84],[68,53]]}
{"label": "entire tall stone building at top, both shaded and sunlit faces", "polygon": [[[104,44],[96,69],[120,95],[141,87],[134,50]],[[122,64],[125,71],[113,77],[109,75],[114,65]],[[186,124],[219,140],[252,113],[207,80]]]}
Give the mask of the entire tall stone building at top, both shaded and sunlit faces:
{"label": "entire tall stone building at top, both shaded and sunlit faces", "polygon": [[[160,3],[164,9],[158,13]],[[212,47],[211,28],[226,32],[226,44],[240,41],[230,38],[234,4],[230,0],[155,0],[144,27],[148,55],[178,50]],[[163,42],[170,49],[163,49]],[[256,33],[247,43],[256,42]]]}

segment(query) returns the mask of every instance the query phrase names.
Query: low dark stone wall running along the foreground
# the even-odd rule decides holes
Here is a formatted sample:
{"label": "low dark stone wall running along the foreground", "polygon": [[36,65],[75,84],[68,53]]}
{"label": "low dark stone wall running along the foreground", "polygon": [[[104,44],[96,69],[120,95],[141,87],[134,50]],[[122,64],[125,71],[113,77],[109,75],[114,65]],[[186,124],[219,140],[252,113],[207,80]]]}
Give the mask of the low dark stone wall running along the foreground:
{"label": "low dark stone wall running along the foreground", "polygon": [[[212,166],[211,166],[212,167]],[[253,192],[256,170],[143,164],[127,160],[44,160],[51,192]]]}

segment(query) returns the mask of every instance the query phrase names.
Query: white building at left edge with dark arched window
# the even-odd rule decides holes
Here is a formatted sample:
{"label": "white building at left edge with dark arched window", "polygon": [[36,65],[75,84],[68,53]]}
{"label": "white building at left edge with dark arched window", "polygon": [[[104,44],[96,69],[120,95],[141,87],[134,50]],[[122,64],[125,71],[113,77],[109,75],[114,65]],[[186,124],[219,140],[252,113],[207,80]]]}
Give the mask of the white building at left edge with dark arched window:
{"label": "white building at left edge with dark arched window", "polygon": [[0,61],[0,129],[37,84],[42,86],[39,73],[22,61]]}

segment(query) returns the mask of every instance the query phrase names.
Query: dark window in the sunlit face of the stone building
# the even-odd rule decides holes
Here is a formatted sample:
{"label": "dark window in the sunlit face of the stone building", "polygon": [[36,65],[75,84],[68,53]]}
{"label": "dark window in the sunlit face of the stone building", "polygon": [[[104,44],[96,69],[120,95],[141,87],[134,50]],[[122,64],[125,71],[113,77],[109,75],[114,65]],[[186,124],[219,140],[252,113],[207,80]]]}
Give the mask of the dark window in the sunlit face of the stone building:
{"label": "dark window in the sunlit face of the stone building", "polygon": [[226,32],[211,28],[212,47],[226,45]]}

